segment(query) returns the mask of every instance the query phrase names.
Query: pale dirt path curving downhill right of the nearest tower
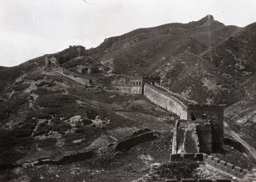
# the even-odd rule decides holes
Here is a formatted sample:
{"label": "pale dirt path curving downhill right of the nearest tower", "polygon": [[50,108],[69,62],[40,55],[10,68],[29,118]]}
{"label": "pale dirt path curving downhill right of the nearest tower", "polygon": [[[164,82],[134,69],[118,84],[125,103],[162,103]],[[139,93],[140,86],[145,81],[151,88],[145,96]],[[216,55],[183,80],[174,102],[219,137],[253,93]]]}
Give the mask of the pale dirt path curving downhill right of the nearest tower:
{"label": "pale dirt path curving downhill right of the nearest tower", "polygon": [[256,159],[256,150],[252,146],[247,144],[247,142],[245,142],[243,139],[241,139],[240,136],[236,134],[236,132],[234,132],[225,121],[224,121],[224,133],[226,133],[229,136],[232,136],[234,139],[236,139],[237,142],[240,142],[242,145],[244,145],[244,147],[247,148],[247,150],[249,150],[252,156]]}

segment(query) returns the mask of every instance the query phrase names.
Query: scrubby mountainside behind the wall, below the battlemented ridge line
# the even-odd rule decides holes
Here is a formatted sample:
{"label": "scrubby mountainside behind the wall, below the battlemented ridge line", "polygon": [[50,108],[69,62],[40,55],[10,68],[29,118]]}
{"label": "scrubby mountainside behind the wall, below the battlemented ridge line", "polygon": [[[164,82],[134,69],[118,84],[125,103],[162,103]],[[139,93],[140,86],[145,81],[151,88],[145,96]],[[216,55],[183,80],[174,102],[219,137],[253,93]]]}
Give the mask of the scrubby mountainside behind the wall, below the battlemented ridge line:
{"label": "scrubby mountainside behind the wall, below the battlemented ridge line", "polygon": [[239,28],[206,20],[190,29],[140,32],[63,66],[84,74],[157,74],[188,99],[230,105],[244,98],[241,85],[255,75],[255,28],[256,23]]}

